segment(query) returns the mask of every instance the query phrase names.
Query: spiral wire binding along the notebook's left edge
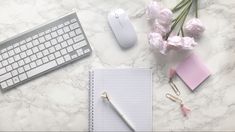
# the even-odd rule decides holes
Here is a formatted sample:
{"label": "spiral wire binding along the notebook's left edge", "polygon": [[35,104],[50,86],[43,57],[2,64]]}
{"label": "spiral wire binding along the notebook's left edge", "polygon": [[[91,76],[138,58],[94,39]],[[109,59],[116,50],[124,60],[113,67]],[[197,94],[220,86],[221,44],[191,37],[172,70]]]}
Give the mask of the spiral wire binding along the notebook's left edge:
{"label": "spiral wire binding along the notebook's left edge", "polygon": [[93,131],[93,118],[94,118],[94,72],[89,72],[89,131]]}

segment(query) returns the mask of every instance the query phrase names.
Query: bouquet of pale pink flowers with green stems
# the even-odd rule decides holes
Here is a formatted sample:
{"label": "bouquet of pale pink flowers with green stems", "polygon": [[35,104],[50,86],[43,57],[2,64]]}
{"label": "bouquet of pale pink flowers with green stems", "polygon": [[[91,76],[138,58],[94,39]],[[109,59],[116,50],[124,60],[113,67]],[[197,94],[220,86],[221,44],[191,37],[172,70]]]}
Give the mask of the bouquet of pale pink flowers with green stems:
{"label": "bouquet of pale pink flowers with green stems", "polygon": [[[185,23],[193,7],[195,17]],[[164,55],[170,50],[192,50],[197,45],[195,39],[205,30],[198,19],[198,0],[181,0],[172,10],[152,1],[147,6],[146,14],[152,25],[148,35],[150,47]]]}

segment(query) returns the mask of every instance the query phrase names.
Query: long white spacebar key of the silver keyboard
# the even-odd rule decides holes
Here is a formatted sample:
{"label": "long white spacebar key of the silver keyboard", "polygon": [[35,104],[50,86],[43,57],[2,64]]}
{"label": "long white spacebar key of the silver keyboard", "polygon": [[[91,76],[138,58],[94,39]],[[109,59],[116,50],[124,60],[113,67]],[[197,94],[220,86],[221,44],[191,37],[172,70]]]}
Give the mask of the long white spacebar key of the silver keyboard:
{"label": "long white spacebar key of the silver keyboard", "polygon": [[51,61],[51,62],[45,63],[37,68],[34,68],[34,69],[26,72],[26,74],[28,75],[28,77],[32,77],[32,76],[37,75],[41,72],[49,70],[55,66],[57,66],[57,63],[55,61]]}

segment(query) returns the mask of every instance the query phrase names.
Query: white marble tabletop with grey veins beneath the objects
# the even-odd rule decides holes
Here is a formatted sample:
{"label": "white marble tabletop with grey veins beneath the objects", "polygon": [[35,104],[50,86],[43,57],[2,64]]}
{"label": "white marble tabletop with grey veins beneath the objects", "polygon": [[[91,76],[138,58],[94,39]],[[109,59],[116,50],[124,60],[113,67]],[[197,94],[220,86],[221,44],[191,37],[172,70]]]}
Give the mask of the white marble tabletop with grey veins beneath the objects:
{"label": "white marble tabletop with grey veins beneath the objects", "polygon": [[[145,7],[149,0],[1,0],[0,40],[57,16],[78,10],[93,54],[6,93],[0,93],[0,131],[87,131],[88,71],[93,68],[145,67],[153,69],[154,131],[235,131],[235,1],[199,0],[206,31],[194,52],[211,69],[212,76],[195,92],[175,80],[182,99],[191,108],[188,118],[165,98],[173,92],[167,70],[188,53],[167,56],[150,51]],[[172,7],[177,0],[162,0]],[[107,13],[127,11],[138,34],[130,50],[117,45],[107,23]]]}

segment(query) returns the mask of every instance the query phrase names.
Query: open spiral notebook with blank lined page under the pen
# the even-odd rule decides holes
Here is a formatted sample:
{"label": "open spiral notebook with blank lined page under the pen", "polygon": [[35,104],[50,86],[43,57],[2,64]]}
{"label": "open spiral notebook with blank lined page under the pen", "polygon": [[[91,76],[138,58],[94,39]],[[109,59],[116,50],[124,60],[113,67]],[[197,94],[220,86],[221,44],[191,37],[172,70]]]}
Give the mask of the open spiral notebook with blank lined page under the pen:
{"label": "open spiral notebook with blank lined page under the pen", "polygon": [[90,131],[130,131],[102,99],[110,98],[136,131],[152,131],[152,72],[150,69],[97,69],[90,71]]}

